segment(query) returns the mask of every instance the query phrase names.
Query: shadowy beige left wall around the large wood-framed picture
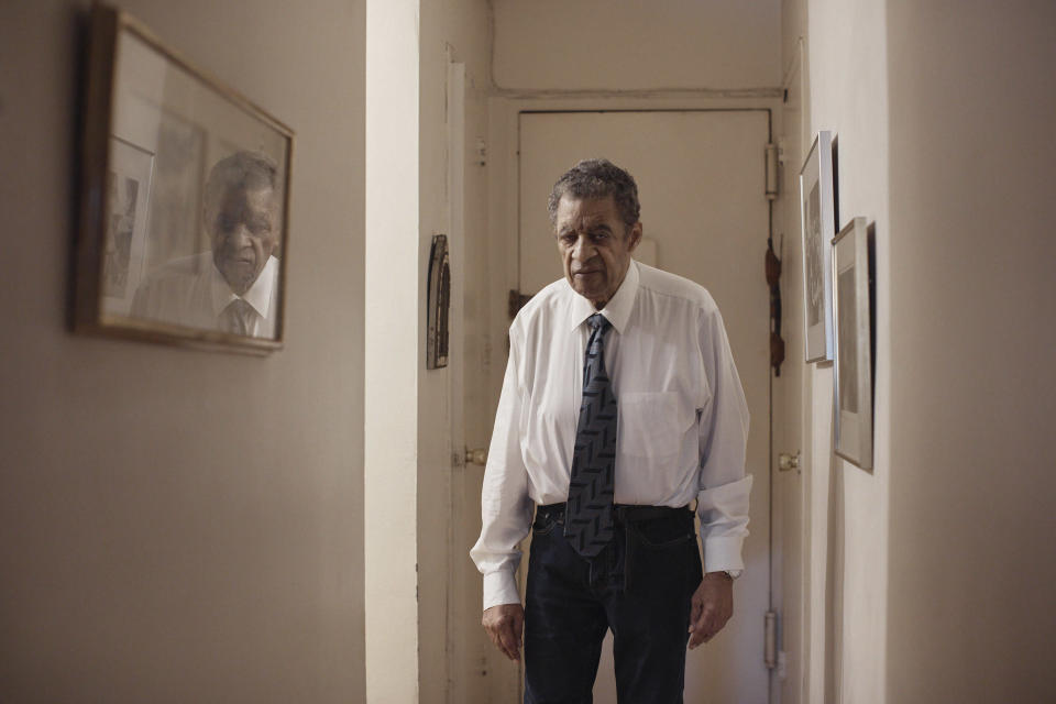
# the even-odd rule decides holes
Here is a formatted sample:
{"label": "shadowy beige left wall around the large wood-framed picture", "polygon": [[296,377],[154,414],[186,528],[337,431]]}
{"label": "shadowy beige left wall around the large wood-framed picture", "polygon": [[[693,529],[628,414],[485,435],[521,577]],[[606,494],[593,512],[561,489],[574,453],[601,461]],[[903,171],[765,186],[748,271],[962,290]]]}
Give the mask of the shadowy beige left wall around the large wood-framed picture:
{"label": "shadowy beige left wall around the large wood-framed picture", "polygon": [[287,343],[66,332],[77,28],[0,6],[0,700],[363,697],[363,3],[122,3],[297,132]]}

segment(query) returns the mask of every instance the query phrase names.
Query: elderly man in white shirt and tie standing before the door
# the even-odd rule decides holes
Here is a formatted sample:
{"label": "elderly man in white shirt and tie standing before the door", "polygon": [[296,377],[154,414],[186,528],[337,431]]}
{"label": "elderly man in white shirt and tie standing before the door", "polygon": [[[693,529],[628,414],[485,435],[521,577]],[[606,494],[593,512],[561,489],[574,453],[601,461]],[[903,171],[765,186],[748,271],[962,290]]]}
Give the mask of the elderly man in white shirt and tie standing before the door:
{"label": "elderly man in white shirt and tie standing before the door", "polygon": [[631,258],[642,226],[628,173],[581,162],[549,210],[564,278],[509,329],[471,551],[483,625],[514,660],[524,635],[527,703],[590,702],[607,629],[619,701],[681,702],[686,645],[729,619],[744,568],[744,391],[707,292]]}

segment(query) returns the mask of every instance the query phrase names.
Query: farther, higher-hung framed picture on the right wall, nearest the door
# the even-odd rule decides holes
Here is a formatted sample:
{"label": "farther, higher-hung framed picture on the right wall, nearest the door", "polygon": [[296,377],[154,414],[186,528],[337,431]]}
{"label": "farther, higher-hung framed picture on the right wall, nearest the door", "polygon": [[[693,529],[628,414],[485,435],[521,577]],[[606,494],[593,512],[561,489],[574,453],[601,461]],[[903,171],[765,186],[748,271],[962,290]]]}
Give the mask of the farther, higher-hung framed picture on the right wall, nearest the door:
{"label": "farther, higher-hung framed picture on the right wall, nearest the door", "polygon": [[831,132],[818,132],[800,170],[803,232],[804,359],[833,359],[833,279],[829,242],[836,234]]}

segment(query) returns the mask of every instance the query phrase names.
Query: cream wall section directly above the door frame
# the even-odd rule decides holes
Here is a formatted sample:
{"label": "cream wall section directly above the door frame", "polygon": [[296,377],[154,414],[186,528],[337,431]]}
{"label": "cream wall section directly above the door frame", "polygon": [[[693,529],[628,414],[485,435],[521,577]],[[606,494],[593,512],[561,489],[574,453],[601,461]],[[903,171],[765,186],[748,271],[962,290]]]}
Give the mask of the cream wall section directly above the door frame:
{"label": "cream wall section directly above the door frame", "polygon": [[494,78],[510,90],[781,84],[780,0],[494,0]]}

